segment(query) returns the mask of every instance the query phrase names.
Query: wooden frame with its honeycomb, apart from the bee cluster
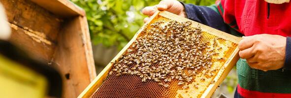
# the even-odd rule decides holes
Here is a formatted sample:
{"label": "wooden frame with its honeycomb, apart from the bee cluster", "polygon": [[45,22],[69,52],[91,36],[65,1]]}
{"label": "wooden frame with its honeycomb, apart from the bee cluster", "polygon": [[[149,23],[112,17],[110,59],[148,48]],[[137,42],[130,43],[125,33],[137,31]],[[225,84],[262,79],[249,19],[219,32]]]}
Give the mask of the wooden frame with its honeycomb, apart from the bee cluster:
{"label": "wooden frame with its honeycomb, apart from the bee cluster", "polygon": [[[127,46],[125,46],[111,62],[121,61],[121,59],[119,58],[124,59],[125,58],[124,54],[126,53],[131,53],[131,54],[136,53],[134,52],[135,51],[134,48],[136,49],[136,45],[133,43],[137,43],[138,40],[145,38],[143,36],[151,36],[149,33],[149,29],[153,27],[152,25],[159,22],[167,24],[167,22],[169,21],[176,21],[178,23],[182,23],[182,22],[187,22],[191,20],[188,20],[186,18],[180,17],[178,15],[175,15],[166,11],[156,12],[151,17],[150,21],[145,23],[145,25],[141,27],[141,29],[135,34],[135,36],[127,44]],[[95,98],[95,97],[210,98],[211,95],[214,93],[215,89],[220,85],[220,83],[224,80],[224,78],[232,69],[232,67],[236,64],[236,61],[239,59],[238,43],[241,39],[233,35],[227,34],[225,32],[211,28],[209,26],[202,25],[194,21],[191,21],[191,22],[192,22],[192,25],[190,25],[191,27],[197,27],[200,25],[200,29],[202,31],[201,36],[203,36],[200,40],[203,40],[205,43],[209,43],[208,45],[209,49],[213,47],[212,50],[215,52],[218,52],[218,54],[212,56],[212,60],[211,60],[212,64],[210,64],[211,65],[210,70],[208,72],[206,70],[202,70],[200,72],[198,71],[198,73],[196,73],[196,75],[194,75],[193,77],[194,78],[193,82],[190,82],[189,84],[187,84],[186,88],[184,88],[184,86],[179,86],[179,83],[178,83],[179,80],[173,80],[173,79],[172,81],[167,82],[169,86],[168,87],[165,86],[165,88],[162,86],[158,86],[158,83],[156,80],[147,80],[146,82],[142,82],[142,79],[139,78],[142,76],[130,75],[132,71],[130,72],[130,74],[124,73],[120,75],[120,73],[113,73],[112,75],[111,71],[114,72],[115,69],[116,69],[115,71],[117,71],[117,69],[121,69],[121,68],[120,67],[116,68],[114,64],[109,63],[106,66],[106,68],[97,75],[94,81],[81,93],[81,95],[78,98],[90,98],[90,97],[91,98]],[[162,32],[160,31],[160,33]],[[140,37],[141,39],[139,39]],[[217,43],[217,44],[213,44],[213,43]],[[220,49],[215,49],[218,47],[220,47]],[[132,50],[133,52],[130,52]],[[206,52],[203,52],[203,53],[206,53]],[[131,54],[128,54],[128,55],[131,55]],[[132,66],[135,66],[135,64],[132,65],[129,63],[125,65],[127,65],[127,67],[129,68],[132,68]],[[161,65],[158,65],[158,66],[161,66]],[[124,67],[124,68],[127,68],[127,67]],[[199,70],[199,68],[197,69]],[[124,71],[124,69],[118,70],[118,71]],[[126,70],[126,71],[129,72],[129,70]],[[151,71],[151,73],[152,72],[154,73],[155,71]],[[214,74],[208,75],[209,73],[211,74],[214,73]]]}

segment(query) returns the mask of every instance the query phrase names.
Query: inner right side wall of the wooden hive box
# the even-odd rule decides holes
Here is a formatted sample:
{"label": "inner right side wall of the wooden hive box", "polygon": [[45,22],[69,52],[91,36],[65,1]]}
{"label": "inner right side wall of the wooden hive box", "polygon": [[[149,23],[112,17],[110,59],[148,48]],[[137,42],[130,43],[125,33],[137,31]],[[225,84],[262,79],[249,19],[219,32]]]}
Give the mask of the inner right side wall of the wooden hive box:
{"label": "inner right side wall of the wooden hive box", "polygon": [[[91,82],[88,71],[86,44],[81,16],[67,19],[58,37],[58,45],[54,54],[53,63],[63,74],[64,97],[76,98]],[[93,62],[91,62],[93,63]]]}

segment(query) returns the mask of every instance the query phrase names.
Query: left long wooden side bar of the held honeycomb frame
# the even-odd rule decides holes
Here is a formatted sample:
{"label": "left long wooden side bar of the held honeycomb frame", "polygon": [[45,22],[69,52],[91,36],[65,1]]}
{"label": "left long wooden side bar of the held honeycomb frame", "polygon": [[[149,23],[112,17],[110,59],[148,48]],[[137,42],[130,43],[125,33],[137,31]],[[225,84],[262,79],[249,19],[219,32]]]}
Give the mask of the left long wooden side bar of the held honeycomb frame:
{"label": "left long wooden side bar of the held honeycomb frame", "polygon": [[[159,13],[155,13],[150,20],[145,23],[145,25],[143,25],[141,27],[141,29],[139,29],[137,31],[137,33],[133,36],[133,38],[129,41],[129,43],[111,60],[111,62],[114,62],[116,59],[118,59],[128,48],[129,46],[135,41],[135,39],[138,37],[138,35],[141,33],[141,31],[143,31],[143,29],[145,28],[145,26],[147,24],[149,24],[149,22],[151,22]],[[102,72],[100,72],[97,77],[89,84],[89,86],[78,96],[78,98],[89,98],[96,90],[98,87],[101,86],[101,84],[103,83],[103,80],[106,79],[107,74],[109,69],[111,68],[112,64],[109,63],[103,70]]]}

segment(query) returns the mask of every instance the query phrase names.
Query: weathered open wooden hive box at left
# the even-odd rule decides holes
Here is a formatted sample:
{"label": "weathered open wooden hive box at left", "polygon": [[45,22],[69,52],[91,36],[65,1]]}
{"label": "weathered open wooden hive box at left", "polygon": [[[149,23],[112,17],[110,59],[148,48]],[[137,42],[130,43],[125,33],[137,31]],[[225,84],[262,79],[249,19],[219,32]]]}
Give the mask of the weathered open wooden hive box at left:
{"label": "weathered open wooden hive box at left", "polygon": [[0,0],[9,42],[60,71],[63,97],[76,98],[96,77],[86,14],[69,0]]}

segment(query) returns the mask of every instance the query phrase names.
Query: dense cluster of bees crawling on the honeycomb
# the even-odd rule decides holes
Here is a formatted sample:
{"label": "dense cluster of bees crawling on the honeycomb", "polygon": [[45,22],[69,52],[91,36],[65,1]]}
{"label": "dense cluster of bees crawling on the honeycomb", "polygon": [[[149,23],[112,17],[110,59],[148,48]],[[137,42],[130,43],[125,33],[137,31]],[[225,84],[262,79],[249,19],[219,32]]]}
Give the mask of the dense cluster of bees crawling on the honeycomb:
{"label": "dense cluster of bees crawling on the honeycomb", "polygon": [[[156,22],[149,25],[144,36],[113,63],[109,76],[137,75],[142,82],[156,81],[164,87],[172,80],[188,88],[198,70],[210,70],[213,50],[202,42],[202,31],[191,27],[191,22]],[[202,53],[204,51],[204,54]]]}

